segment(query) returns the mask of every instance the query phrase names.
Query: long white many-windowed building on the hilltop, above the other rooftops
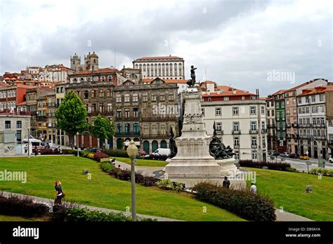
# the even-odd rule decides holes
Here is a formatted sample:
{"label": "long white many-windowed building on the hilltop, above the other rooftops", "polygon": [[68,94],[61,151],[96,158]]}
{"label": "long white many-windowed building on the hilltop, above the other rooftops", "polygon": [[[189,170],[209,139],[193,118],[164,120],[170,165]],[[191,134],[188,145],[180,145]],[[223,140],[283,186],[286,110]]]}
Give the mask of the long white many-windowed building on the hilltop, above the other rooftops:
{"label": "long white many-windowed building on the hilltop, above the other rooftops", "polygon": [[143,79],[185,79],[183,57],[140,57],[133,61],[134,69],[141,69]]}

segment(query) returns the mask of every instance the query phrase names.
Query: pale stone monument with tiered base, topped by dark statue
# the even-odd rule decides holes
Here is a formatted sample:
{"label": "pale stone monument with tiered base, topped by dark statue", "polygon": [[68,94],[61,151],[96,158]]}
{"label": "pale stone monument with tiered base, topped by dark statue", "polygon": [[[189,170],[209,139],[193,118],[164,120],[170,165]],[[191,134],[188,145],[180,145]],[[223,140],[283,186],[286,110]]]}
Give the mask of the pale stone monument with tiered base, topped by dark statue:
{"label": "pale stone monument with tiered base, topped by dark statue", "polygon": [[[186,187],[192,187],[204,179],[222,182],[223,177],[233,175],[237,171],[232,154],[230,156],[229,152],[228,156],[222,156],[226,147],[221,145],[221,140],[216,135],[212,138],[207,135],[200,104],[202,95],[194,87],[195,69],[191,67],[189,88],[184,94],[183,129],[181,137],[175,139],[177,154],[166,160],[168,164],[164,174],[164,177],[174,182],[185,183]],[[211,156],[209,149],[212,140],[219,152],[215,158]]]}

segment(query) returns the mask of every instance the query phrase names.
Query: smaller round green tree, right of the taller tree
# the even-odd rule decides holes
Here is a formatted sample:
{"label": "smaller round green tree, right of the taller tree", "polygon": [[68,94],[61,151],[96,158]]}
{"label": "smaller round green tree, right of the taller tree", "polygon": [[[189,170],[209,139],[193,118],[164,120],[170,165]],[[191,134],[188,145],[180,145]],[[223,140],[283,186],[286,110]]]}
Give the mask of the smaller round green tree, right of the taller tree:
{"label": "smaller round green tree, right of the taller tree", "polygon": [[90,128],[90,133],[94,137],[98,137],[98,139],[103,139],[103,147],[105,139],[112,137],[112,135],[115,133],[115,123],[110,121],[108,118],[103,118],[100,114],[98,114]]}

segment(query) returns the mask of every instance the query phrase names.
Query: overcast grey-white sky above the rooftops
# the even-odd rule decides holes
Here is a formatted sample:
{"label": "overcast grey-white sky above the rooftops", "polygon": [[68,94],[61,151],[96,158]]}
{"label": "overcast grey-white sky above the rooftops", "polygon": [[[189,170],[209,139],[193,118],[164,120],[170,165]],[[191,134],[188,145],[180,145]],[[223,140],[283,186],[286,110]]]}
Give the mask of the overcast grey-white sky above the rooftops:
{"label": "overcast grey-white sky above the rooftops", "polygon": [[[95,50],[100,67],[176,55],[197,79],[268,95],[333,79],[332,1],[0,0],[0,74],[70,67]],[[115,63],[116,50],[116,63]],[[207,75],[206,75],[207,74]]]}

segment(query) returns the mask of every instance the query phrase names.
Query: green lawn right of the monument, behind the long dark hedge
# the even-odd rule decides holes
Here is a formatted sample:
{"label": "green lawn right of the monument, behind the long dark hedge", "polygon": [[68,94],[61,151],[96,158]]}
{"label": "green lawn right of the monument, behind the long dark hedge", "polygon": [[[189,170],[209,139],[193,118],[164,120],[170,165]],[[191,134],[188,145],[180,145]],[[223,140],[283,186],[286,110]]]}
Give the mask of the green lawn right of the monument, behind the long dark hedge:
{"label": "green lawn right of the monument, behind the long dark hedge", "polygon": [[[308,217],[316,221],[333,221],[333,177],[309,175],[301,172],[243,168],[256,172],[256,187],[269,196],[275,208]],[[313,192],[306,194],[306,186]]]}

